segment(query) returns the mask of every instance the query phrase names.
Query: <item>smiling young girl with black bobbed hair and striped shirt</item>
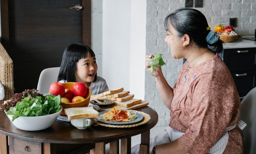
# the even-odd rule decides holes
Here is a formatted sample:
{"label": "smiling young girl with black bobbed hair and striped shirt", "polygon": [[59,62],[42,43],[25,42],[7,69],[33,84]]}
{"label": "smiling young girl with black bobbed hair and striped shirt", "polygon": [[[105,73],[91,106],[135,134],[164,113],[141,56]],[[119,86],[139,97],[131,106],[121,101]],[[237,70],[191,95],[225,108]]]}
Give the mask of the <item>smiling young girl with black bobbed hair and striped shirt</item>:
{"label": "smiling young girl with black bobbed hair and striped shirt", "polygon": [[97,76],[97,69],[93,50],[86,45],[72,44],[63,53],[58,81],[84,82],[92,95],[108,91],[105,79]]}

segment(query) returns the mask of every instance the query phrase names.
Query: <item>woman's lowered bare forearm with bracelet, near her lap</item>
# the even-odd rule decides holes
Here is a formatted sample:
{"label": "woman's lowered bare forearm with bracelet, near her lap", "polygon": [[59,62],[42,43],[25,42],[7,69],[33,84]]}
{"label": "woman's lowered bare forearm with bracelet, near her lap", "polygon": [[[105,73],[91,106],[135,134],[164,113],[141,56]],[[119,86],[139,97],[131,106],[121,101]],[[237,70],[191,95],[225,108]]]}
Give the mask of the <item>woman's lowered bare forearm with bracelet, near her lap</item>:
{"label": "woman's lowered bare forearm with bracelet, near her lap", "polygon": [[[157,145],[155,148],[155,153],[175,153],[175,154],[185,154],[186,151],[181,146],[180,140],[177,139],[170,143],[160,144]],[[150,152],[150,154],[153,154],[153,152]]]}

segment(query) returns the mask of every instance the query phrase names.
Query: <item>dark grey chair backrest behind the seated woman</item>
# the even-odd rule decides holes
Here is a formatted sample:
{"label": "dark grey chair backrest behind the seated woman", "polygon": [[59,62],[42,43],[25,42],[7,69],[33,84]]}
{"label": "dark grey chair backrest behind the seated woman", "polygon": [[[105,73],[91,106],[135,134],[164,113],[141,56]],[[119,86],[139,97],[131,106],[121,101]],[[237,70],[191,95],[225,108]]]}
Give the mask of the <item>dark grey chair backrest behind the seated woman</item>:
{"label": "dark grey chair backrest behind the seated woman", "polygon": [[256,153],[256,87],[241,102],[240,117],[247,125],[244,128],[244,154]]}

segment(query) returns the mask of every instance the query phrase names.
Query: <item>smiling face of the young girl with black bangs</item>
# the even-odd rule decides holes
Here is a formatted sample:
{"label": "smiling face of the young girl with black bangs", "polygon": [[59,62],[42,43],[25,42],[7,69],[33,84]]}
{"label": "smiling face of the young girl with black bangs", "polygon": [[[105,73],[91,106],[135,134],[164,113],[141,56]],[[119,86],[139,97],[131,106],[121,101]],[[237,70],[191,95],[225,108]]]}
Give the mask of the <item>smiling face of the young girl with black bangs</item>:
{"label": "smiling face of the young girl with black bangs", "polygon": [[87,54],[86,58],[82,58],[76,63],[76,82],[85,82],[86,85],[89,86],[89,83],[94,81],[97,69],[98,66],[96,63],[96,58],[90,57],[90,54]]}

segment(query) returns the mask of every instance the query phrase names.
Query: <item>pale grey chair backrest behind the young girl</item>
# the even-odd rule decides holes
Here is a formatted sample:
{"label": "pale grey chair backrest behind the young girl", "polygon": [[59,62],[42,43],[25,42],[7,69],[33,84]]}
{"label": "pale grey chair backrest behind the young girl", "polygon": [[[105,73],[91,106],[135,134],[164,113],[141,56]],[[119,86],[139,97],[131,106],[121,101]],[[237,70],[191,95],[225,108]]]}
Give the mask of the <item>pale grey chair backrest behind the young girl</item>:
{"label": "pale grey chair backrest behind the young girl", "polygon": [[52,67],[42,70],[37,85],[37,90],[39,90],[40,93],[49,92],[51,84],[58,80],[59,68],[60,67]]}

